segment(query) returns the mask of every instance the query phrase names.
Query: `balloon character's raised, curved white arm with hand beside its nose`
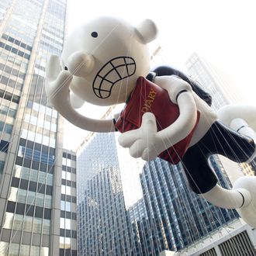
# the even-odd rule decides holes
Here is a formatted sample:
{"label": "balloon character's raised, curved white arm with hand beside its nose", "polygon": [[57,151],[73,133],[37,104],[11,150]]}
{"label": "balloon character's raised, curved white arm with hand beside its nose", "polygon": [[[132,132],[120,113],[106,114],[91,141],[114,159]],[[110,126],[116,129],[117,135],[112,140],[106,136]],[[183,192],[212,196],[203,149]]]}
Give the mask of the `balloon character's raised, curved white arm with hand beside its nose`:
{"label": "balloon character's raised, curved white arm with hand beside its nose", "polygon": [[[65,119],[81,129],[93,132],[114,132],[112,119],[91,119],[78,113],[71,104],[70,85],[72,74],[60,71],[59,57],[52,55],[47,63],[47,82],[45,85],[47,97]],[[74,98],[73,98],[74,99]]]}

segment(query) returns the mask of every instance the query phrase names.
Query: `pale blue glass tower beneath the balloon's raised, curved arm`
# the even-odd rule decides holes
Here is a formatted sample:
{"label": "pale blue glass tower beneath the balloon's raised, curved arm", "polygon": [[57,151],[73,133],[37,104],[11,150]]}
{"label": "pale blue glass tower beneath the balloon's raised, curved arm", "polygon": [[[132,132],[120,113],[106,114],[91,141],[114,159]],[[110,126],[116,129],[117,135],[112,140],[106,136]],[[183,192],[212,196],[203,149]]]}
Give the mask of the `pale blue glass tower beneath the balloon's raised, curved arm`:
{"label": "pale blue glass tower beneath the balloon's raised, curved arm", "polygon": [[92,133],[78,149],[78,252],[134,255],[114,133]]}

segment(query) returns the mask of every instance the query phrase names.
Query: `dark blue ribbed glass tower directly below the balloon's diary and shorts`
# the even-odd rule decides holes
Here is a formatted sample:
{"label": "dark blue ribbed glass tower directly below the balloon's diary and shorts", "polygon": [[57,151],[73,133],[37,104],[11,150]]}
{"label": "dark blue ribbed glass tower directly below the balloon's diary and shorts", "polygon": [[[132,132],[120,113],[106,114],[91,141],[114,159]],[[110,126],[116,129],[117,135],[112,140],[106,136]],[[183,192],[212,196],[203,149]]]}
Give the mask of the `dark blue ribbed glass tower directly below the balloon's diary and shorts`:
{"label": "dark blue ribbed glass tower directly below the balloon's diary and shorts", "polygon": [[[213,159],[212,163],[220,185],[230,188],[220,162]],[[140,181],[150,227],[154,227],[155,255],[178,251],[238,216],[236,211],[213,206],[190,191],[181,164],[156,158],[145,164]]]}

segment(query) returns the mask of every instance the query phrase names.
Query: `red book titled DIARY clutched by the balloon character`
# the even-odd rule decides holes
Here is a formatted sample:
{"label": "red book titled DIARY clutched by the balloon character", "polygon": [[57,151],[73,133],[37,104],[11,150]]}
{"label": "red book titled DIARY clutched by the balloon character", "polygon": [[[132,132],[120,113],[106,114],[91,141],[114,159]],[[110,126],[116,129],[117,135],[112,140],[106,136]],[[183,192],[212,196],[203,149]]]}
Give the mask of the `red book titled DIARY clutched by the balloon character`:
{"label": "red book titled DIARY clutched by the balloon character", "polygon": [[[140,77],[137,79],[137,85],[115,124],[116,129],[120,133],[124,133],[140,128],[145,112],[154,113],[158,131],[170,126],[179,116],[178,105],[171,102],[168,92],[146,78]],[[199,112],[197,112],[195,127],[198,122]],[[169,161],[171,164],[178,164],[189,147],[195,127],[188,137],[164,150],[158,157]]]}

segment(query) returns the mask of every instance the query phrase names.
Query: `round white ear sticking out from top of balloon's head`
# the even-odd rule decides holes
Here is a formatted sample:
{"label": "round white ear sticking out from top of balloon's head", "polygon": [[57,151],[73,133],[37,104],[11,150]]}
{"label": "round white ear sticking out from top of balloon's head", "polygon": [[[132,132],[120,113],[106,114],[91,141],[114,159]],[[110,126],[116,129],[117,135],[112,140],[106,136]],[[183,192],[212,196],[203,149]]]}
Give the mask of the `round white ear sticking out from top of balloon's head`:
{"label": "round white ear sticking out from top of balloon's head", "polygon": [[158,29],[156,24],[151,19],[144,19],[135,28],[135,32],[140,37],[143,43],[150,43],[157,37]]}

